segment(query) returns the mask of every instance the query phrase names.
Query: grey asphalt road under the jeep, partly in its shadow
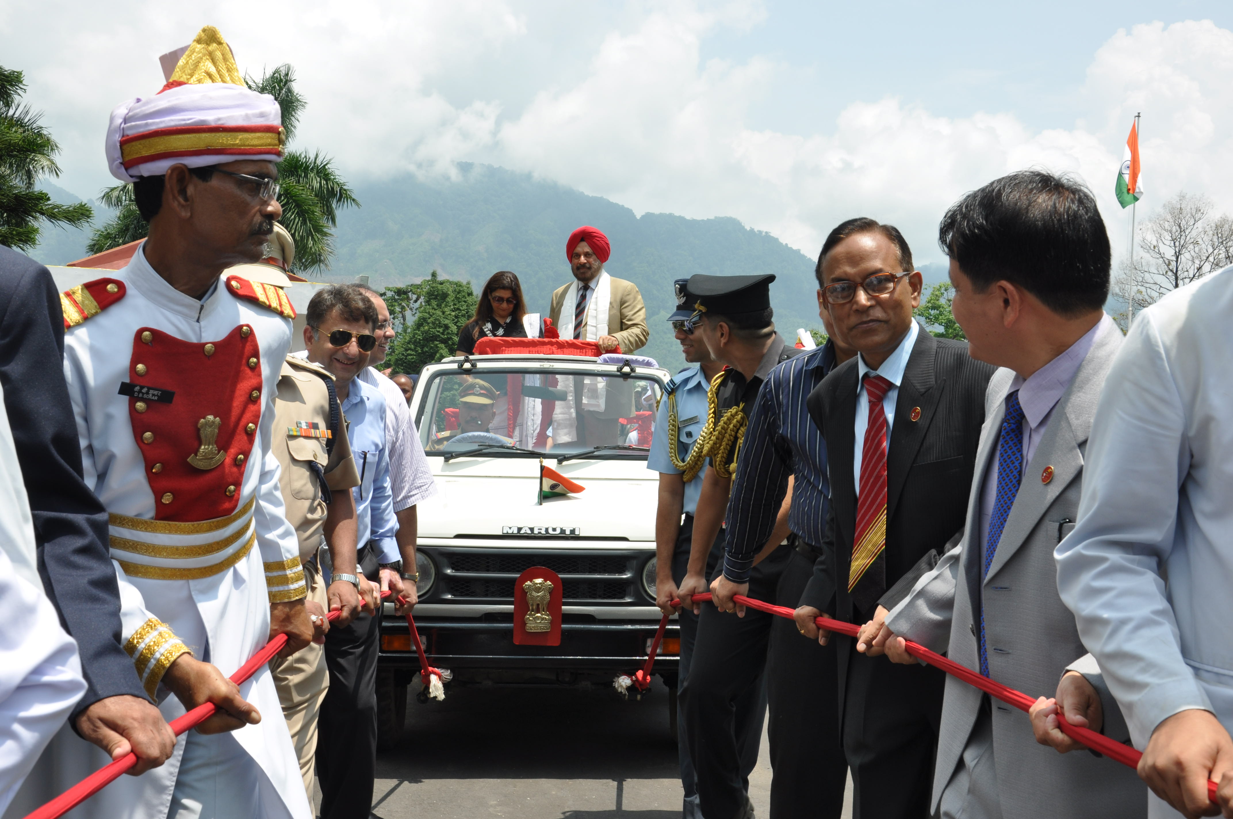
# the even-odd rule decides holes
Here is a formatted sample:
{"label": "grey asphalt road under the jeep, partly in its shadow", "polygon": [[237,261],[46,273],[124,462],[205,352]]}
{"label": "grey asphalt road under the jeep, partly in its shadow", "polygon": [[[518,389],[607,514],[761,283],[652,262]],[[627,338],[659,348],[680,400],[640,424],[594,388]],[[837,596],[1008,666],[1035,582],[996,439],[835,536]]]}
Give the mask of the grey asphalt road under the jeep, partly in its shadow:
{"label": "grey asphalt road under the jeep, partly in its shadow", "polygon": [[[667,689],[451,687],[407,706],[407,731],[377,755],[377,819],[678,819]],[[766,736],[750,781],[769,817]],[[850,814],[845,812],[845,817]]]}

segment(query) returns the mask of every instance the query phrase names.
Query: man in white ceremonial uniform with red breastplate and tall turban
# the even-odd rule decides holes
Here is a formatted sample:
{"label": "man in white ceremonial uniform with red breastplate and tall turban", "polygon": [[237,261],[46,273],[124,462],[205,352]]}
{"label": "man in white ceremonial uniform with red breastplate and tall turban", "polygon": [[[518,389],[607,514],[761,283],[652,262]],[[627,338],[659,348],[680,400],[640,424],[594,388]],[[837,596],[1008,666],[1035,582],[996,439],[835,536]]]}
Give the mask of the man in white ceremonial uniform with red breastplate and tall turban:
{"label": "man in white ceremonial uniform with red breastplate and tall turban", "polygon": [[[284,656],[313,638],[270,451],[295,311],[277,287],[221,276],[259,260],[281,216],[281,143],[277,102],[244,88],[213,27],[158,95],[112,112],[111,170],[134,183],[149,238],[63,295],[65,380],[137,675],[169,722],[218,710],[72,817],[312,815],[269,670],[226,678],[277,633]],[[43,797],[109,760],[65,726],[44,761]]]}

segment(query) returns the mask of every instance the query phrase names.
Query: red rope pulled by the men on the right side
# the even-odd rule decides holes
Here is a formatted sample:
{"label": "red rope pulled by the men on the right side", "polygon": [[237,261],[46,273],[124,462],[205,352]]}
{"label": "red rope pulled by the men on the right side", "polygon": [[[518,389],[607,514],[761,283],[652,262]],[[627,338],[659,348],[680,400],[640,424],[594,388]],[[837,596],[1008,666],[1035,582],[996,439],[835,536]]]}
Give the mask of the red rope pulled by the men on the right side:
{"label": "red rope pulled by the men on the right side", "polygon": [[[710,598],[711,598],[710,592],[704,592],[702,595],[693,596],[693,599],[699,603],[704,603]],[[743,595],[736,595],[732,597],[732,599],[736,603],[740,603],[741,606],[746,606],[758,612],[766,612],[767,614],[774,614],[776,617],[784,617],[789,620],[793,619],[794,612],[790,608],[785,608],[783,606],[772,606],[771,603],[763,603],[762,601],[752,599],[750,597],[745,597]],[[672,601],[672,604],[679,607],[682,603],[681,601]],[[857,634],[861,633],[859,625],[853,625],[852,623],[843,623],[842,620],[832,620],[829,617],[819,617],[815,618],[814,622],[817,624],[819,628],[826,629],[827,632],[837,632],[838,634],[847,634],[848,636],[856,636]],[[637,691],[639,697],[641,697],[642,692],[650,688],[651,666],[655,665],[655,655],[658,654],[660,643],[663,639],[663,629],[667,624],[668,624],[668,615],[665,614],[663,618],[660,619],[660,629],[655,633],[655,640],[651,643],[651,650],[647,652],[649,656],[646,657],[646,665],[642,666],[642,669],[640,669],[636,673],[634,673],[633,677],[623,675],[613,681],[613,687],[616,688],[616,691],[621,694],[621,697],[628,696],[626,692],[631,687]],[[924,645],[919,645],[916,643],[912,643],[911,640],[906,640],[906,643],[907,643],[907,654],[912,655],[917,660],[924,660],[931,666],[935,666],[947,672],[952,677],[958,677],[963,682],[967,682],[970,686],[980,688],[990,697],[995,697],[1006,703],[1007,706],[1014,706],[1015,708],[1018,708],[1022,712],[1027,712],[1028,709],[1031,709],[1032,706],[1036,704],[1034,698],[1028,697],[1021,691],[1015,691],[1014,688],[1004,686],[996,680],[990,680],[989,677],[985,677],[967,666],[959,665],[954,660],[948,660],[943,657],[941,654],[930,651]],[[1062,715],[1060,709],[1058,712],[1058,726],[1062,729],[1062,733],[1065,734],[1067,736],[1079,743],[1083,743],[1091,750],[1099,754],[1104,754],[1105,756],[1116,760],[1122,765],[1129,766],[1132,768],[1138,767],[1139,757],[1143,756],[1141,751],[1137,751],[1128,745],[1122,745],[1121,743],[1113,741],[1107,736],[1097,734],[1096,731],[1089,728],[1081,728],[1080,725],[1071,725]],[[1211,780],[1207,781],[1207,798],[1211,799],[1213,803],[1216,802],[1216,783],[1212,782]]]}

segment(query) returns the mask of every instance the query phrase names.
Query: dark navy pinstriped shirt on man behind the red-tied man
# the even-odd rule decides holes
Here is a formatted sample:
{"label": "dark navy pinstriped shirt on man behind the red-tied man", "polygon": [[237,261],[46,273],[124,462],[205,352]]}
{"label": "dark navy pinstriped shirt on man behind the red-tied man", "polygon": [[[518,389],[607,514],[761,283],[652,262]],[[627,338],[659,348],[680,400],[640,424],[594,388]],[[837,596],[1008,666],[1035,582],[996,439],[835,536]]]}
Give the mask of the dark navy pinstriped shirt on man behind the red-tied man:
{"label": "dark navy pinstriped shirt on man behind the red-tied man", "polygon": [[835,345],[788,359],[771,370],[750,416],[727,502],[724,576],[747,582],[753,558],[774,529],[795,474],[788,525],[809,544],[822,543],[830,481],[826,442],[809,417],[805,398],[835,368]]}

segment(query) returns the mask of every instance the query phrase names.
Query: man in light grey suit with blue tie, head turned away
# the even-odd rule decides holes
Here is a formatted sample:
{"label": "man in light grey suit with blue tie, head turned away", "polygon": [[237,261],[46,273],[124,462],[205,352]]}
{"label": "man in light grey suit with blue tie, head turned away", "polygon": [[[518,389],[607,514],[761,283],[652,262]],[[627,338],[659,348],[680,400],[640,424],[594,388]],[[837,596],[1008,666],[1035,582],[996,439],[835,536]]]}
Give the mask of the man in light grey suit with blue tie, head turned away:
{"label": "man in light grey suit with blue tie, head turned away", "polygon": [[[963,539],[891,612],[879,608],[884,623],[864,627],[858,650],[916,662],[906,638],[1014,688],[1058,689],[1071,722],[1126,739],[1053,561],[1078,518],[1084,449],[1122,343],[1102,310],[1105,224],[1086,187],[1033,170],[964,196],[940,239],[969,353],[1001,369],[985,395]],[[1100,696],[1068,693],[1070,671]],[[1046,708],[1034,709],[1041,722]],[[1041,747],[1027,715],[951,677],[931,808],[964,819],[1143,817],[1147,792],[1129,768]]]}

